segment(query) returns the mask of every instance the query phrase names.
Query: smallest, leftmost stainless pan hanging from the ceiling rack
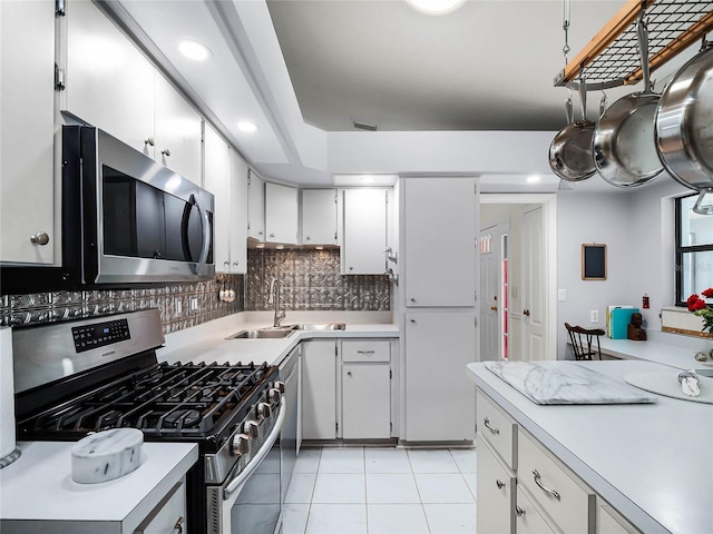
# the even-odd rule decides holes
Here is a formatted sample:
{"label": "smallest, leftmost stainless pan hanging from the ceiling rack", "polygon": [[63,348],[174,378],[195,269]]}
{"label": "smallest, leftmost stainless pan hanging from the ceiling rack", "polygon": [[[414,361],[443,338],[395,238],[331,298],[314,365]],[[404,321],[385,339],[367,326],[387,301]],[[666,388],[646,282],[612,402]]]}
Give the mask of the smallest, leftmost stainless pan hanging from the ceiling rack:
{"label": "smallest, leftmost stainless pan hanging from the ceiling rack", "polygon": [[[566,181],[582,181],[597,171],[592,157],[594,122],[587,120],[587,89],[579,80],[582,120],[565,126],[549,146],[549,167]],[[572,120],[572,119],[570,119]]]}

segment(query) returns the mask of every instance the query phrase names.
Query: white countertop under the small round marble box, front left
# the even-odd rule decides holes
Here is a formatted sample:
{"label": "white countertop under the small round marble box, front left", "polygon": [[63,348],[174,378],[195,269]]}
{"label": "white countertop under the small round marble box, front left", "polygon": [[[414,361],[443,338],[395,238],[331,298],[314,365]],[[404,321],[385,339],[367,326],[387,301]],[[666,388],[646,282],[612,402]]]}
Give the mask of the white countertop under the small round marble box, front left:
{"label": "white countertop under the small round marble box, front left", "polygon": [[[13,532],[13,522],[40,521],[68,522],[64,527],[69,530],[61,532],[79,532],[72,531],[71,522],[117,522],[135,527],[198,459],[196,444],[144,443],[143,463],[136,471],[109,482],[78,484],[71,478],[74,445],[18,443],[22,455],[0,471],[0,531]],[[41,526],[35,524],[36,528]]]}

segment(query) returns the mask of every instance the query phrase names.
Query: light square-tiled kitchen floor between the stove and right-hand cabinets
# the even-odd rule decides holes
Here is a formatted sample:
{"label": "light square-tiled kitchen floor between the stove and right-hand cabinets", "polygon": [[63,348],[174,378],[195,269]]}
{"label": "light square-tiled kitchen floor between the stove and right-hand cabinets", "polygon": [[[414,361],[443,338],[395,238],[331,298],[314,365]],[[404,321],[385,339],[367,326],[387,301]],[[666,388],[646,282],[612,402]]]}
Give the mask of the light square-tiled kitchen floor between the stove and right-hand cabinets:
{"label": "light square-tiled kitchen floor between the stove and right-hand cabinets", "polygon": [[476,449],[303,448],[283,534],[476,532]]}

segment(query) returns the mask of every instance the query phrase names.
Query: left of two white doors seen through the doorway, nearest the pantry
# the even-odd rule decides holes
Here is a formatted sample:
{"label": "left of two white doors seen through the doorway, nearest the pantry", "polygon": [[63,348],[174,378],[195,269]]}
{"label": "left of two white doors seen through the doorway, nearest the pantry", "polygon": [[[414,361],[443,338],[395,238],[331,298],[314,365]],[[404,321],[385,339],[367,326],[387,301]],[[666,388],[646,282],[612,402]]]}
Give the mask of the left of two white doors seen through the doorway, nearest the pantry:
{"label": "left of two white doors seen through the doorway, nearest the pantry", "polygon": [[504,354],[502,236],[508,226],[501,222],[480,231],[480,362],[497,360]]}

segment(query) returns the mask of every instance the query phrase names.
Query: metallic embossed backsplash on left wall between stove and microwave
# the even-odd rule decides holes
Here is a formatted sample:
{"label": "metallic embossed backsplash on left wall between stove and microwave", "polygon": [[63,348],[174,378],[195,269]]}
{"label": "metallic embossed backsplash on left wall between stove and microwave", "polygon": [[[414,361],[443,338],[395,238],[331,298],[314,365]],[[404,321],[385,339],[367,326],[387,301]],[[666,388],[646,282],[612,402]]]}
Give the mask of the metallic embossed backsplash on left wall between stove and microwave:
{"label": "metallic embossed backsplash on left wall between stove and microwave", "polygon": [[[158,308],[164,333],[168,334],[242,312],[244,285],[243,275],[216,275],[212,280],[197,284],[141,289],[3,295],[0,297],[0,326],[35,325]],[[235,300],[221,300],[221,289],[235,291]],[[197,306],[192,308],[193,300]],[[180,303],[180,306],[177,303]]]}

